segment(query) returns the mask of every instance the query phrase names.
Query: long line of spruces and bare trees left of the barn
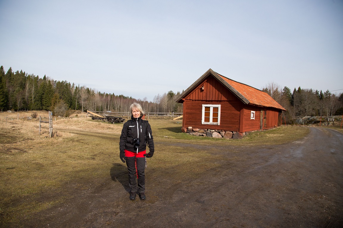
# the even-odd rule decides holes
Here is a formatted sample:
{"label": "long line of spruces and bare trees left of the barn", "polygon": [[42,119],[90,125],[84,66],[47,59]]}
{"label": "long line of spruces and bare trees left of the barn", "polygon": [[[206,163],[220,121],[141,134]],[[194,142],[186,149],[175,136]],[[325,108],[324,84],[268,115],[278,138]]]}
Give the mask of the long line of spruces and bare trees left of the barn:
{"label": "long line of spruces and bare trees left of the barn", "polygon": [[135,99],[114,93],[101,93],[67,81],[43,78],[10,67],[0,67],[0,110],[49,110],[55,116],[69,116],[74,110],[127,112],[133,102],[146,112],[182,112],[182,104],[174,102],[180,92],[158,94],[153,101]]}

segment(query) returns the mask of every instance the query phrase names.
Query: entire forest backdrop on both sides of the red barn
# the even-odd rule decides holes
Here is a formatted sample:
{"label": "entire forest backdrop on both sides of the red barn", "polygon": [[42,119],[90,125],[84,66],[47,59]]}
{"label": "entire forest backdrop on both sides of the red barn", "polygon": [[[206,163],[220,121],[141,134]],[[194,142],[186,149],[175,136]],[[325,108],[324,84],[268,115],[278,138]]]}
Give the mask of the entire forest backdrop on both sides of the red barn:
{"label": "entire forest backdrop on both sides of the red barn", "polygon": [[[323,116],[343,114],[343,93],[336,95],[326,90],[294,88],[271,82],[262,88],[285,109],[287,122],[292,123],[298,116]],[[124,95],[98,92],[85,86],[67,81],[54,81],[44,76],[40,78],[21,71],[7,72],[0,67],[0,110],[50,110],[55,116],[69,117],[74,110],[127,112],[130,104],[138,102],[146,112],[182,112],[182,104],[174,98],[180,92],[169,91],[156,95],[153,101],[135,99]]]}

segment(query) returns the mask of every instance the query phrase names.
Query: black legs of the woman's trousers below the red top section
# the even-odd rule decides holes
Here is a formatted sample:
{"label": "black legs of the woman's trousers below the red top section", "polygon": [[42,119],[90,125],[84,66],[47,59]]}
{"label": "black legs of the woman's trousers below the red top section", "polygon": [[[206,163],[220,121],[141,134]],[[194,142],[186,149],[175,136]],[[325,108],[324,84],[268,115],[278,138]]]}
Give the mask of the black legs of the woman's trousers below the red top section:
{"label": "black legs of the woman's trousers below the red top section", "polygon": [[[145,157],[125,157],[125,160],[129,171],[129,187],[131,189],[131,192],[145,192]],[[136,164],[138,181],[136,175]]]}

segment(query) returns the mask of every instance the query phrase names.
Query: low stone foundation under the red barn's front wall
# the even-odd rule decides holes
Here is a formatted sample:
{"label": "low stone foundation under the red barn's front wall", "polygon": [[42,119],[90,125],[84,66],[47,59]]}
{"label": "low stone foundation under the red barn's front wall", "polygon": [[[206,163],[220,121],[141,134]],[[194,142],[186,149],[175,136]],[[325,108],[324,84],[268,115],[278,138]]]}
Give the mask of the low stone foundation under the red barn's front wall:
{"label": "low stone foundation under the red barn's front wall", "polygon": [[239,133],[235,131],[224,131],[224,130],[211,130],[211,129],[197,129],[197,128],[192,128],[188,127],[182,128],[182,132],[190,135],[196,135],[196,136],[202,136],[202,137],[213,137],[213,138],[226,138],[226,139],[231,139],[231,138],[243,138],[243,136],[246,134],[244,133]]}

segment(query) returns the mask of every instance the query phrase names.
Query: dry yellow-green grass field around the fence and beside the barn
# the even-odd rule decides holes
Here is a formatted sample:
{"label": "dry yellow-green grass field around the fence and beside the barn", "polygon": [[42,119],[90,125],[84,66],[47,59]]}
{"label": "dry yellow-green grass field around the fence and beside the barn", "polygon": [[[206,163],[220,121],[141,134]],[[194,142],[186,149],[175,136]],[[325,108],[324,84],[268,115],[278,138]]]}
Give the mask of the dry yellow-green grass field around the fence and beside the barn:
{"label": "dry yellow-green grass field around the fence and beside the barn", "polygon": [[[87,183],[108,176],[119,159],[119,137],[122,124],[110,124],[76,117],[54,118],[54,138],[48,137],[48,124],[38,135],[38,119],[28,119],[32,112],[0,113],[0,227],[29,218],[51,206],[70,199],[66,184],[87,188]],[[178,172],[196,175],[204,162],[204,153],[180,143],[230,146],[261,146],[292,142],[306,136],[308,128],[282,126],[254,132],[244,139],[217,139],[181,133],[180,120],[150,119],[155,155],[149,160],[155,169],[176,164]],[[168,145],[168,146],[166,146]],[[233,152],[234,153],[234,152]],[[182,155],[182,156],[178,156]],[[233,155],[234,156],[234,155]],[[187,164],[187,165],[182,165]]]}

